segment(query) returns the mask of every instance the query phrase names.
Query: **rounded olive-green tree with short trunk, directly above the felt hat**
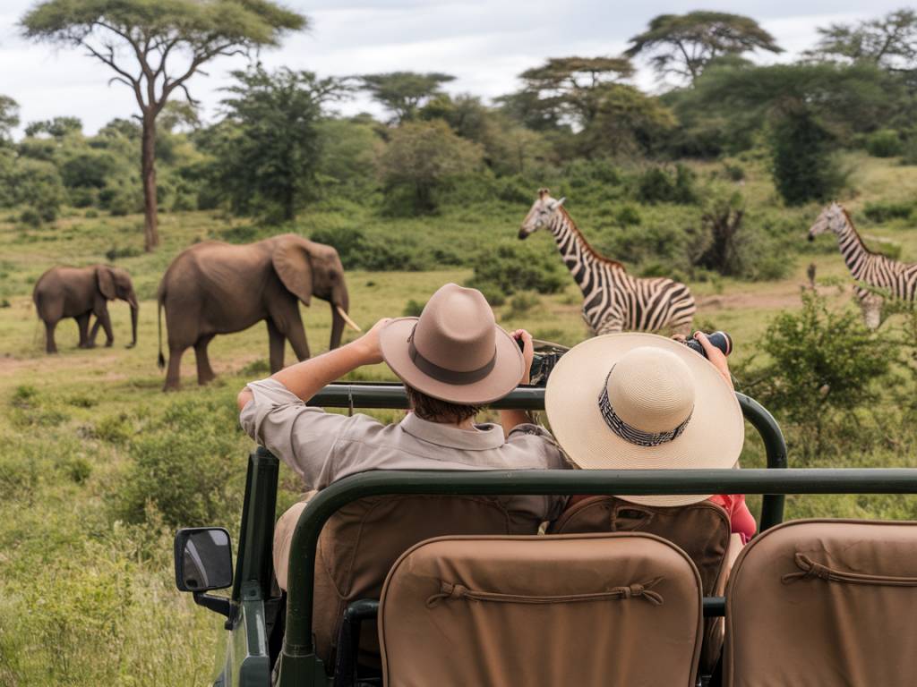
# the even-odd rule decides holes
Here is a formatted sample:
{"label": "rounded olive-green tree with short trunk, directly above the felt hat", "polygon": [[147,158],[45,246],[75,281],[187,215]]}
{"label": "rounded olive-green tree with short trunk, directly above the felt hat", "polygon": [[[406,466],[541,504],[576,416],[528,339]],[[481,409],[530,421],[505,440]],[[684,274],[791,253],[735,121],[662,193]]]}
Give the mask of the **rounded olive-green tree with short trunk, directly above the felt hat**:
{"label": "rounded olive-green tree with short trunk, directly above the felt hat", "polygon": [[392,131],[379,158],[389,191],[407,189],[415,213],[436,209],[434,192],[449,180],[481,165],[481,146],[466,141],[446,122],[409,122]]}

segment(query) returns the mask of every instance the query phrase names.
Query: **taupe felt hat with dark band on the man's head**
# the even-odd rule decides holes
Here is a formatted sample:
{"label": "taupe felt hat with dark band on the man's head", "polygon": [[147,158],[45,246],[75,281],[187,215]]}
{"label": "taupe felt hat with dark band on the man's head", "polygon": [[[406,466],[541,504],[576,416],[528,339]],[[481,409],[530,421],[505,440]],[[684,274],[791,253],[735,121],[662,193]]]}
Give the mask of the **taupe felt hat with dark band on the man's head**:
{"label": "taupe felt hat with dark band on the man's head", "polygon": [[477,289],[447,284],[420,317],[392,320],[379,333],[382,357],[402,381],[432,398],[482,405],[518,386],[525,365],[514,338]]}

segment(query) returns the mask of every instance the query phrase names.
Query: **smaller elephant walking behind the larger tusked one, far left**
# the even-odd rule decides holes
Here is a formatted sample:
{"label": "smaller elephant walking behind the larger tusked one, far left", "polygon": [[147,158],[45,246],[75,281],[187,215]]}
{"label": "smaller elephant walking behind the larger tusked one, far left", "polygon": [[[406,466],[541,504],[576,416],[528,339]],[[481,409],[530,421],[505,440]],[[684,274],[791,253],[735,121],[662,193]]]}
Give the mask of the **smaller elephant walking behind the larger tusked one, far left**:
{"label": "smaller elephant walking behind the larger tusked one, far left", "polygon": [[[105,329],[105,345],[115,341],[111,320],[108,317],[109,300],[126,300],[130,305],[131,343],[137,344],[137,294],[130,275],[120,267],[93,265],[90,267],[51,267],[35,283],[32,300],[45,323],[45,350],[57,353],[54,343],[54,328],[65,317],[72,317],[80,327],[80,348],[93,348],[95,336],[102,326]],[[89,332],[90,316],[95,315],[92,332]]]}

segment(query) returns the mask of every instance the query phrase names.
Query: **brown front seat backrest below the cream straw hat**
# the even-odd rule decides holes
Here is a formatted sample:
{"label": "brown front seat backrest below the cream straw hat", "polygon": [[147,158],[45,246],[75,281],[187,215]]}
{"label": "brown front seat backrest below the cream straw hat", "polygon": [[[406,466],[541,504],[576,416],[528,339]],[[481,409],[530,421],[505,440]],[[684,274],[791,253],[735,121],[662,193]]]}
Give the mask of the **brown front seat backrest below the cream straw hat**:
{"label": "brown front seat backrest below the cream straw hat", "polygon": [[[568,507],[547,529],[575,532],[646,532],[671,541],[688,554],[704,596],[722,595],[741,539],[731,536],[725,509],[711,501],[688,506],[643,506],[617,496],[589,496]],[[708,618],[704,626],[701,671],[710,674],[723,649],[724,622]]]}

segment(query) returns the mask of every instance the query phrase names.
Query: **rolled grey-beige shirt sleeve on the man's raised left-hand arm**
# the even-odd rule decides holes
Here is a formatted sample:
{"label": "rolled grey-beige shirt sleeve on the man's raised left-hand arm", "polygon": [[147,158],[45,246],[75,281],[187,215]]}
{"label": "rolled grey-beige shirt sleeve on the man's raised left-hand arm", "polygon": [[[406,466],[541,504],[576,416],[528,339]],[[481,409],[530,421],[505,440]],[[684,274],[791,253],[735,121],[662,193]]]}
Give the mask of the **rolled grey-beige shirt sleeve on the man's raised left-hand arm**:
{"label": "rolled grey-beige shirt sleeve on the man's raised left-hand arm", "polygon": [[242,429],[288,463],[309,489],[323,489],[337,479],[337,440],[363,424],[378,425],[366,415],[347,417],[307,406],[275,379],[251,382],[252,400],[239,414]]}

